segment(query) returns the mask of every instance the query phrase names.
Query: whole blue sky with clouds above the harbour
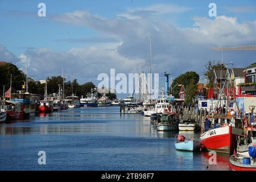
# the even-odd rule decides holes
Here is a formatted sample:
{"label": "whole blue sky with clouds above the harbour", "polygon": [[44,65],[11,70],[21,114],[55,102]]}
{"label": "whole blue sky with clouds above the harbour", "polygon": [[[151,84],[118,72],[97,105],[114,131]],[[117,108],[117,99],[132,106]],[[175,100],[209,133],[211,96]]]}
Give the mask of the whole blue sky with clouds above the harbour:
{"label": "whole blue sky with clouds above the harbour", "polygon": [[[209,16],[209,3],[217,16]],[[46,17],[39,17],[39,3]],[[149,72],[171,78],[221,60],[212,47],[256,45],[256,1],[1,0],[0,60],[44,80],[64,69],[68,80],[98,84],[100,73]],[[224,51],[223,63],[245,67],[256,51]]]}

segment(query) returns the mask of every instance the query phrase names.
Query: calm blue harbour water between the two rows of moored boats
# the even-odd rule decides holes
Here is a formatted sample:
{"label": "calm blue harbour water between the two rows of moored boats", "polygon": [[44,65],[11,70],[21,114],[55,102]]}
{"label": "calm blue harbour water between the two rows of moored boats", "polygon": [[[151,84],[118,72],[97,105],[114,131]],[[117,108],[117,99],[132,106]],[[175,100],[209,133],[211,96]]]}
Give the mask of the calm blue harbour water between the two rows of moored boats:
{"label": "calm blue harbour water between the two rows of moored boats", "polygon": [[[178,134],[159,133],[150,118],[121,116],[114,106],[41,113],[0,124],[0,170],[230,170],[228,155],[209,165],[207,152],[176,151]],[[38,164],[39,151],[46,165]]]}

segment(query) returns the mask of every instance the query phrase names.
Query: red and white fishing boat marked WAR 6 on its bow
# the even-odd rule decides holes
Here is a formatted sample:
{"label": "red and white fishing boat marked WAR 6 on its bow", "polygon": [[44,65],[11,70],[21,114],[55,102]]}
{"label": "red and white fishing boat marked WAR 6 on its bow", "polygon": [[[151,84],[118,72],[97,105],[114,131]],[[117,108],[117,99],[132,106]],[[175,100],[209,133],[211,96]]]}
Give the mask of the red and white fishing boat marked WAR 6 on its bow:
{"label": "red and white fishing boat marked WAR 6 on its bow", "polygon": [[[228,77],[228,72],[226,78]],[[220,101],[226,102],[226,106],[229,106],[229,94],[228,92],[224,94],[224,89],[229,88],[229,81],[225,80],[223,87],[221,88],[220,97],[218,98],[217,104],[214,108],[213,113],[210,115],[210,120],[207,119],[203,126],[201,126],[201,143],[203,143],[203,148],[209,151],[216,151],[225,154],[232,154],[233,149],[237,147],[237,138],[244,137],[243,131],[243,121],[242,114],[237,105],[236,99],[234,99],[234,104],[236,104],[237,115],[229,115],[227,113],[228,108],[226,108],[225,113],[217,113],[217,107]],[[234,96],[231,91],[230,94]],[[222,99],[222,98],[225,98]]]}

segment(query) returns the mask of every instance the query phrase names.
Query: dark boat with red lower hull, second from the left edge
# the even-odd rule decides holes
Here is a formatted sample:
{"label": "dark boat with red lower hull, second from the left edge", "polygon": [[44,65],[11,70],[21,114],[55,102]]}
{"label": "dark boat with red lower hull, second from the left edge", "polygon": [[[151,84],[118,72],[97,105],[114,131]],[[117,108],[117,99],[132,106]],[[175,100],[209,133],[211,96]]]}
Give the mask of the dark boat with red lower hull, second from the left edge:
{"label": "dark boat with red lower hull, second from the left edge", "polygon": [[7,120],[19,119],[20,115],[20,103],[15,101],[5,101],[5,107],[7,112]]}

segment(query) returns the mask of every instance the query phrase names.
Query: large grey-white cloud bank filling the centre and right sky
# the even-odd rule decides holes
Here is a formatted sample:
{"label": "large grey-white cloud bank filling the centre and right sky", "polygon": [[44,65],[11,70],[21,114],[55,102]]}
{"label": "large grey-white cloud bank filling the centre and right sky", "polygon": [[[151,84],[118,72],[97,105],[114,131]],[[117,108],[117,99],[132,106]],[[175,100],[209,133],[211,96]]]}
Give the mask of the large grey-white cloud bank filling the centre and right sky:
{"label": "large grey-white cloud bank filling the centre and right sky", "polygon": [[[136,12],[137,11],[137,12]],[[140,11],[140,12],[139,12]],[[186,9],[176,12],[187,11]],[[58,75],[61,68],[74,73],[84,82],[95,80],[98,73],[138,71],[138,64],[148,71],[149,39],[152,37],[154,72],[171,73],[171,77],[185,71],[196,71],[203,75],[204,65],[209,60],[220,60],[220,53],[212,47],[243,46],[256,43],[256,20],[238,22],[236,17],[217,16],[208,19],[194,16],[193,27],[179,28],[162,20],[155,20],[154,14],[171,13],[172,6],[160,5],[128,10],[123,14],[134,17],[104,18],[88,11],[74,11],[53,17],[53,20],[72,26],[89,27],[102,36],[118,40],[117,43],[97,44],[91,47],[75,47],[67,52],[56,52],[46,48],[28,49],[24,52],[31,61],[31,74],[39,79]],[[141,13],[141,14],[139,14]],[[144,18],[136,18],[136,17]],[[136,17],[135,17],[136,16]],[[233,61],[238,67],[255,62],[255,51],[225,52],[224,63]],[[0,57],[1,59],[1,57]]]}

